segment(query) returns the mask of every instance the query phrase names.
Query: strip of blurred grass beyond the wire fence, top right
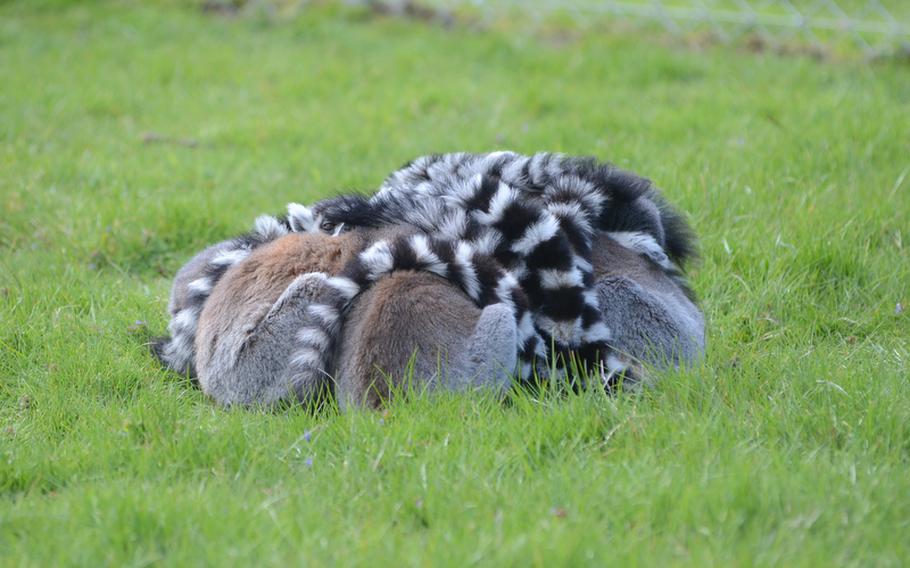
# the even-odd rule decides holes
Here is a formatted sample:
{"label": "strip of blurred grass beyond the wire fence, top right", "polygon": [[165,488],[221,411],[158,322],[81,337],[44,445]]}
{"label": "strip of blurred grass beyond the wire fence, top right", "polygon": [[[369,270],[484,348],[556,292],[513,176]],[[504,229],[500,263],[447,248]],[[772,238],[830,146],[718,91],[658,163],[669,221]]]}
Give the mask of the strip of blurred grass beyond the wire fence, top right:
{"label": "strip of blurred grass beyond the wire fence, top right", "polygon": [[[290,0],[242,1],[247,9],[271,6],[273,15],[293,12],[287,8],[294,5]],[[906,0],[420,0],[417,4],[466,22],[499,29],[532,28],[556,38],[580,30],[625,29],[654,41],[671,30],[675,41],[690,45],[721,43],[831,60],[906,59],[910,47],[910,2]]]}

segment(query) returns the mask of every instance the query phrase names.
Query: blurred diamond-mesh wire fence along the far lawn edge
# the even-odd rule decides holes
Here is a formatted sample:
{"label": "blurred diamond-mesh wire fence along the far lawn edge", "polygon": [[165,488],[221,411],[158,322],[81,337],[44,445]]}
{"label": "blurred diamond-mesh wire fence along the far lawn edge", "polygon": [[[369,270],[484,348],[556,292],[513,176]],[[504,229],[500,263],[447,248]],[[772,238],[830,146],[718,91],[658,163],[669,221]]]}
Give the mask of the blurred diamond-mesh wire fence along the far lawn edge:
{"label": "blurred diamond-mesh wire fence along the far lawn edge", "polygon": [[[357,3],[357,2],[355,2]],[[910,0],[363,0],[388,12],[471,13],[492,21],[639,22],[678,36],[708,34],[724,43],[831,48],[867,55],[910,54]]]}

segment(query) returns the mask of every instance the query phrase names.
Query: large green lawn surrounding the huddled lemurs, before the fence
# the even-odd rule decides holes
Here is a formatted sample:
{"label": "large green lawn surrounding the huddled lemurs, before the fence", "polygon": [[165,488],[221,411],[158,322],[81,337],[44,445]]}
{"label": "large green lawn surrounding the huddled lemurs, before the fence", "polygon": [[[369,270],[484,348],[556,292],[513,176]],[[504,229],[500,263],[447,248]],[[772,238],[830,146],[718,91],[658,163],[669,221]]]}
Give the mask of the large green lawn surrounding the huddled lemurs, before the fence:
{"label": "large green lawn surrounding the huddled lemurs, before the fence", "polygon": [[[908,132],[896,63],[2,3],[0,564],[902,564]],[[261,212],[501,147],[611,159],[688,212],[703,366],[270,414],[131,331]]]}

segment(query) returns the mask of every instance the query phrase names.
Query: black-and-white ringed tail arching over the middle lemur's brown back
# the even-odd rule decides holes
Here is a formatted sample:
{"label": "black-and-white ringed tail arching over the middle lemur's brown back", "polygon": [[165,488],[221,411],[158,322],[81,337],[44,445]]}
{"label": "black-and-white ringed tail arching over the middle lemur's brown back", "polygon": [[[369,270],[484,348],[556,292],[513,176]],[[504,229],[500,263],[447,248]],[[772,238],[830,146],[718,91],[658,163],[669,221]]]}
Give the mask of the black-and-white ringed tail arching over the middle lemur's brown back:
{"label": "black-and-white ringed tail arching over the middle lemur's brown back", "polygon": [[[471,243],[415,234],[372,243],[338,276],[323,275],[329,291],[326,300],[308,307],[306,323],[297,334],[298,346],[289,362],[295,380],[315,382],[328,372],[351,302],[370,284],[396,270],[419,270],[445,278],[481,308],[506,306],[518,328],[516,349],[522,360],[545,356],[527,299],[510,272]],[[523,372],[530,372],[530,367]]]}

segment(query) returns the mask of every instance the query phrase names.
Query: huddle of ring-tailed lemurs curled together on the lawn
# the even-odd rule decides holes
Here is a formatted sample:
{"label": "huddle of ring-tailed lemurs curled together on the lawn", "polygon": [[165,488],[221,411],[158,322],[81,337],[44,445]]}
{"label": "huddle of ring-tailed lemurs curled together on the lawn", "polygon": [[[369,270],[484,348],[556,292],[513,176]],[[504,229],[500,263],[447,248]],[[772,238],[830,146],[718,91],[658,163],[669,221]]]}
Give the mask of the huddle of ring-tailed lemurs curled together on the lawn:
{"label": "huddle of ring-tailed lemurs curled together on the lawn", "polygon": [[703,352],[692,242],[646,179],[592,158],[425,156],[196,255],[153,347],[223,404],[375,406],[406,374],[501,391],[570,363],[612,388]]}

